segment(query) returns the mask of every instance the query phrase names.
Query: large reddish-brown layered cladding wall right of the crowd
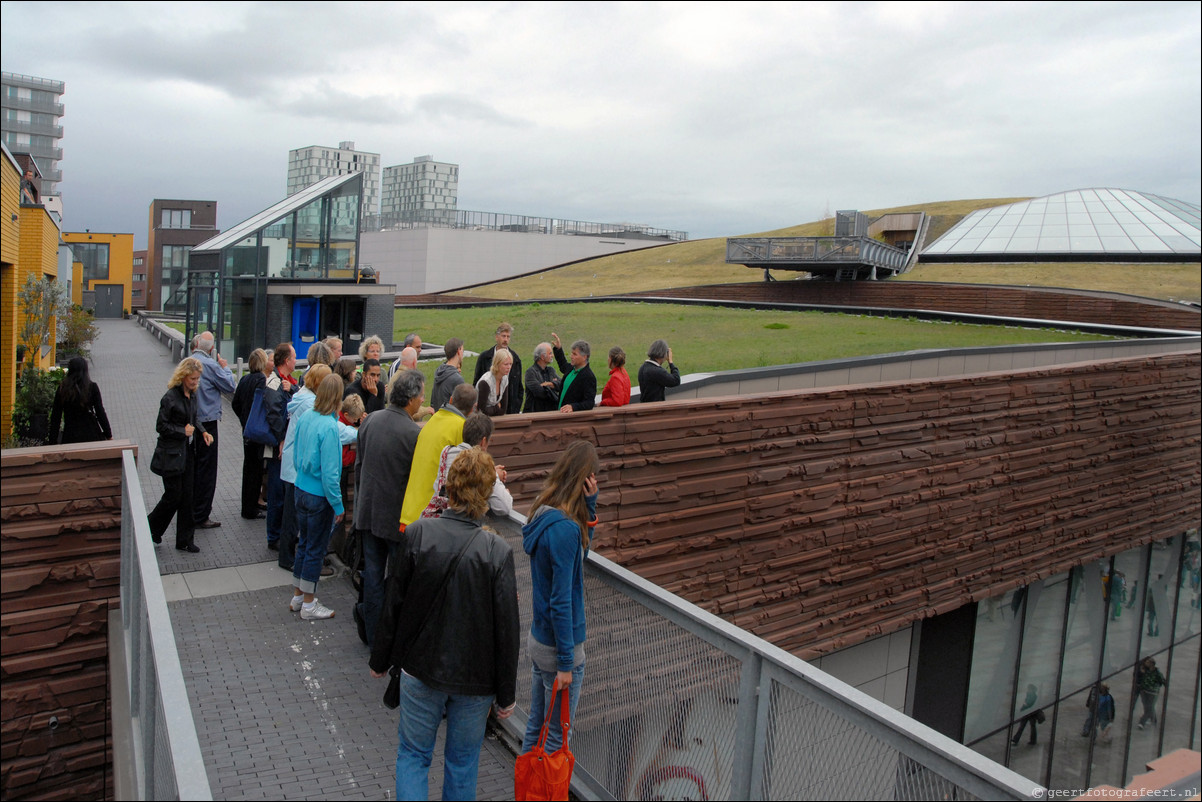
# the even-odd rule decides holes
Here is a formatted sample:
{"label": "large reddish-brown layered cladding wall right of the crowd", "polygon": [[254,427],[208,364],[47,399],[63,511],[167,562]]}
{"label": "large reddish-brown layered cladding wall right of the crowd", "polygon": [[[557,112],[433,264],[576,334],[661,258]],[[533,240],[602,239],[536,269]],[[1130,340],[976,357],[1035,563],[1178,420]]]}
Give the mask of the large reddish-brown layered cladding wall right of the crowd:
{"label": "large reddish-brown layered cladding wall right of the crowd", "polygon": [[528,512],[602,459],[601,553],[803,658],[1197,525],[1200,355],[494,418]]}

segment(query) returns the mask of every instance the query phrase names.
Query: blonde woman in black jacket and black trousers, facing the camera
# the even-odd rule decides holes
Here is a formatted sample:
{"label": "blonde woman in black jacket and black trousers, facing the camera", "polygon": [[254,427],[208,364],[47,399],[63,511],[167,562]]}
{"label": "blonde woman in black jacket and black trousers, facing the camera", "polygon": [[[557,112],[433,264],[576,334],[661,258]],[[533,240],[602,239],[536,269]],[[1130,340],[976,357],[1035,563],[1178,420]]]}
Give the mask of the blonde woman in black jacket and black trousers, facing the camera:
{"label": "blonde woman in black jacket and black trousers, facing the camera", "polygon": [[[196,418],[196,388],[203,370],[204,366],[196,357],[182,360],[159,402],[159,418],[155,421],[159,442],[150,459],[150,470],[162,476],[162,498],[147,516],[155,545],[162,542],[171,519],[175,518],[175,548],[192,554],[201,551],[194,542],[196,522],[192,519],[196,442],[200,439],[204,447],[213,444],[213,435],[202,429]],[[200,438],[195,436],[197,432]]]}

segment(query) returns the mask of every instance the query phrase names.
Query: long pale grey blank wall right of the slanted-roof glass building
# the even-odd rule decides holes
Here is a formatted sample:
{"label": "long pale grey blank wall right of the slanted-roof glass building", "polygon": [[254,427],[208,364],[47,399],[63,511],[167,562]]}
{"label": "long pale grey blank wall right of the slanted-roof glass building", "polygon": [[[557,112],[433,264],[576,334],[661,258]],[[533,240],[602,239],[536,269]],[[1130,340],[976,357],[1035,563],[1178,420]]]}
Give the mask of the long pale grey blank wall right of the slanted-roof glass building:
{"label": "long pale grey blank wall right of the slanted-roof glass building", "polygon": [[662,244],[463,228],[369,231],[359,236],[359,263],[375,268],[380,284],[397,285],[398,295],[421,295]]}

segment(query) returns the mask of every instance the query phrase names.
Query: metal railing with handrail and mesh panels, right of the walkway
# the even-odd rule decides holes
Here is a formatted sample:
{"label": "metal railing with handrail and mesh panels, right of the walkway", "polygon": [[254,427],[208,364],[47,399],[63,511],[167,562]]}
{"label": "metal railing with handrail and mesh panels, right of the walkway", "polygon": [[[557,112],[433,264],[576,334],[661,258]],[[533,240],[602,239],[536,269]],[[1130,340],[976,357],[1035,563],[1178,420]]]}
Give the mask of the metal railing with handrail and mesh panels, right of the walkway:
{"label": "metal railing with handrail and mesh panels, right of the walkway", "polygon": [[[519,523],[500,530],[520,548]],[[517,522],[517,523],[516,523]],[[520,554],[520,552],[518,552]],[[529,598],[529,560],[516,560]],[[1039,798],[1043,788],[621,566],[585,563],[587,798]],[[523,631],[529,608],[523,610]],[[529,666],[523,640],[523,663]],[[502,721],[520,739],[530,703]]]}

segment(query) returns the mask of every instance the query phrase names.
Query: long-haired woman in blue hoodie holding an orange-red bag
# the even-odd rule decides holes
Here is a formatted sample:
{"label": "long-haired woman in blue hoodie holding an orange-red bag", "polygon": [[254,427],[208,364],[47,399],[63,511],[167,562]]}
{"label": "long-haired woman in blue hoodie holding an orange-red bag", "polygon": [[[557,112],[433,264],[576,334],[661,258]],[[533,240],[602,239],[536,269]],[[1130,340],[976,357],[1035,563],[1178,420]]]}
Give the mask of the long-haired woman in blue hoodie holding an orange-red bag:
{"label": "long-haired woman in blue hoodie holding an orange-red bag", "polygon": [[[538,739],[548,705],[559,705],[559,690],[569,688],[569,715],[576,718],[584,678],[584,557],[596,525],[596,448],[576,440],[564,450],[542,489],[530,505],[522,528],[522,547],[530,556],[530,602],[534,618],[526,641],[534,663],[530,718],[522,751]],[[554,696],[554,699],[552,697]],[[564,742],[560,715],[552,712],[548,753]]]}

